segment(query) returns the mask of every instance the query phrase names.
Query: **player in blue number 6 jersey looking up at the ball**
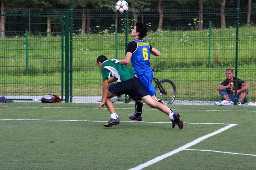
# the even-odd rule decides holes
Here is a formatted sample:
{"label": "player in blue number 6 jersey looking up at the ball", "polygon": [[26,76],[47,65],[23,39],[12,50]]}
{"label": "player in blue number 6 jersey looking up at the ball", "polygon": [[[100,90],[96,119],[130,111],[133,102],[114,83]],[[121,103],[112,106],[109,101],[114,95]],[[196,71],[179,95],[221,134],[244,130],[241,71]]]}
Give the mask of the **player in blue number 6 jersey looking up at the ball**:
{"label": "player in blue number 6 jersey looking up at the ball", "polygon": [[[153,71],[150,66],[150,54],[154,56],[160,56],[161,53],[153,48],[148,41],[143,40],[143,37],[147,36],[148,30],[145,24],[136,23],[134,29],[131,31],[131,36],[134,37],[132,42],[129,42],[127,45],[127,53],[125,59],[119,60],[121,64],[128,64],[131,62],[134,70],[137,72],[137,77],[142,82],[148,94],[157,102],[163,103],[160,99],[157,99],[155,94],[157,93],[156,89],[152,84]],[[166,105],[165,105],[166,106]],[[135,113],[134,116],[129,116],[131,120],[142,121],[142,101],[135,102]],[[167,106],[166,106],[167,107]],[[168,107],[167,107],[168,108]],[[172,111],[169,108],[170,111]],[[172,111],[173,113],[178,113]],[[171,119],[172,120],[172,119]],[[172,120],[172,127],[175,127],[175,121]]]}

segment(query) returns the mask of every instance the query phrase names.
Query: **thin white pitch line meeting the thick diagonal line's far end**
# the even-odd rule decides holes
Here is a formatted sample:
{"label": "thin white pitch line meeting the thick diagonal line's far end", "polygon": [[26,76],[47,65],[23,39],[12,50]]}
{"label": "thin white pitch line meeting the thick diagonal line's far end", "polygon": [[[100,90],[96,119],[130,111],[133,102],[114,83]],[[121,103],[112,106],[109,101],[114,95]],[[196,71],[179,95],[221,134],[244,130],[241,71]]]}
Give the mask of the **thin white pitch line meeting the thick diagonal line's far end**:
{"label": "thin white pitch line meeting the thick diagonal line's far end", "polygon": [[[108,122],[107,120],[57,120],[57,119],[0,119],[0,120],[23,120],[23,121],[67,121],[67,122]],[[134,121],[120,121],[125,123],[172,123],[172,122],[134,122]],[[230,125],[230,123],[190,123],[186,124],[209,124],[209,125]]]}

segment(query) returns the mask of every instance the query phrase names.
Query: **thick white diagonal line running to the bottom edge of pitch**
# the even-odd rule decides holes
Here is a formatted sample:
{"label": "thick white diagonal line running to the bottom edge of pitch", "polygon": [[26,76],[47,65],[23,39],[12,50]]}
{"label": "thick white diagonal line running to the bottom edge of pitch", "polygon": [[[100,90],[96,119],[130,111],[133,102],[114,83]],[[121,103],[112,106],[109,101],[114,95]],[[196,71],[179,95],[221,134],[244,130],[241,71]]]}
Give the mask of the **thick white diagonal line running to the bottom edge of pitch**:
{"label": "thick white diagonal line running to the bottom edge of pitch", "polygon": [[180,152],[180,151],[182,151],[182,150],[186,150],[188,147],[191,147],[191,146],[193,146],[193,145],[195,145],[195,144],[198,144],[199,142],[203,141],[204,139],[207,139],[207,138],[209,138],[209,137],[211,137],[211,136],[214,136],[214,135],[216,135],[216,134],[218,134],[218,133],[221,133],[221,132],[223,132],[224,130],[227,130],[227,129],[229,129],[230,127],[233,127],[233,126],[236,126],[236,125],[237,125],[237,124],[230,124],[230,125],[228,125],[228,126],[226,126],[226,127],[223,127],[223,128],[221,128],[221,129],[219,129],[219,130],[216,130],[216,131],[213,132],[213,133],[209,133],[208,135],[205,135],[205,136],[202,136],[202,137],[200,137],[200,138],[198,138],[198,139],[195,139],[194,141],[189,142],[189,143],[187,143],[187,144],[185,144],[185,145],[183,145],[183,146],[181,146],[181,147],[179,147],[179,148],[177,148],[177,149],[175,149],[175,150],[172,150],[172,151],[169,152],[169,153],[163,154],[163,155],[158,156],[158,157],[156,157],[156,158],[154,158],[154,159],[152,159],[152,160],[150,160],[150,161],[145,162],[144,164],[140,164],[140,165],[137,166],[137,167],[131,168],[130,170],[141,170],[141,169],[143,169],[143,168],[145,168],[145,167],[150,166],[151,164],[154,164],[154,163],[156,163],[156,162],[158,162],[158,161],[161,161],[161,160],[163,160],[163,159],[165,159],[165,158],[167,158],[167,157],[169,157],[169,156],[172,156],[172,155],[175,154],[175,153],[178,153],[178,152]]}

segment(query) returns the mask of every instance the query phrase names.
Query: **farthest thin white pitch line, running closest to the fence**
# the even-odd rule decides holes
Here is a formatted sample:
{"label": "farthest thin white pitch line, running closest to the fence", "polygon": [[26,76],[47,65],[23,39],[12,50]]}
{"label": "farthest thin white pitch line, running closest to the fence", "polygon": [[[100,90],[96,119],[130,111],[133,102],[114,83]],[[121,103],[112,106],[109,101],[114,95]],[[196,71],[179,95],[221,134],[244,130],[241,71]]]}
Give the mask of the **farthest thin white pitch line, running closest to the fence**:
{"label": "farthest thin white pitch line, running closest to the fence", "polygon": [[[23,107],[23,106],[16,106],[16,107],[12,107],[12,106],[0,106],[0,108],[47,108],[47,109],[99,109],[99,108],[70,108],[70,107]],[[107,108],[102,108],[102,109],[107,109]],[[115,108],[116,110],[122,109],[122,110],[134,110],[134,108]],[[143,108],[143,110],[157,110],[157,109],[151,109],[151,108]],[[175,111],[222,111],[222,110],[199,110],[199,109],[175,109]],[[230,112],[230,110],[228,111],[222,111],[222,112]],[[236,111],[236,112],[256,112],[255,111]]]}

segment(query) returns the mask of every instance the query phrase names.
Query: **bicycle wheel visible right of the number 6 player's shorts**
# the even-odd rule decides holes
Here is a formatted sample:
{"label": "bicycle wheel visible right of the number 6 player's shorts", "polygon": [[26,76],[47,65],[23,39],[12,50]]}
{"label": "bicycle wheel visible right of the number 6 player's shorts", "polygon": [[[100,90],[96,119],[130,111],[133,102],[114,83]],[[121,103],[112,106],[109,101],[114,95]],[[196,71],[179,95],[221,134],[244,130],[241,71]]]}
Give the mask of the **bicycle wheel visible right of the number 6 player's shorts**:
{"label": "bicycle wheel visible right of the number 6 player's shorts", "polygon": [[155,85],[157,90],[156,97],[161,99],[165,104],[172,104],[176,97],[177,89],[170,79],[162,79],[158,84]]}

